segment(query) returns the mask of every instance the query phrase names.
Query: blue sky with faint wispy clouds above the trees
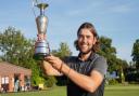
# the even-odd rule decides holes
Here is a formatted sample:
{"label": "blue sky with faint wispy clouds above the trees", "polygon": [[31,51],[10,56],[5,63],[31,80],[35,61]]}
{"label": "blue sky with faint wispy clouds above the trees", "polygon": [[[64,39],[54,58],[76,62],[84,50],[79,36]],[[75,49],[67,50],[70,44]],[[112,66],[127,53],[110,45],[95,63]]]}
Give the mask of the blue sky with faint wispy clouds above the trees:
{"label": "blue sky with faint wispy clouds above the trees", "polygon": [[[112,39],[117,57],[130,61],[135,41],[139,39],[139,0],[38,0],[49,6],[47,41],[51,50],[66,42],[73,52],[78,27],[90,22],[99,36]],[[39,10],[34,8],[36,16]],[[37,38],[37,27],[31,0],[0,0],[0,31],[15,27],[28,38]]]}

